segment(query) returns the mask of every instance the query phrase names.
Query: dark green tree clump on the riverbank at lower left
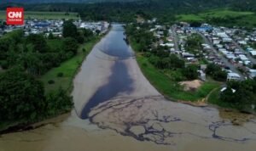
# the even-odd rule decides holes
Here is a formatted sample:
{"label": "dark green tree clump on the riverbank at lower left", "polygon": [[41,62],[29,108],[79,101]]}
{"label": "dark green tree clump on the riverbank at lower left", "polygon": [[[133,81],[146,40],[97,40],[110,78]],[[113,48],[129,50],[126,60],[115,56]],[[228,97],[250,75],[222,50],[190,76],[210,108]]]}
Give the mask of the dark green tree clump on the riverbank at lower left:
{"label": "dark green tree clump on the riverbank at lower left", "polygon": [[61,88],[45,97],[43,83],[18,67],[0,75],[0,90],[0,131],[65,113],[73,106]]}

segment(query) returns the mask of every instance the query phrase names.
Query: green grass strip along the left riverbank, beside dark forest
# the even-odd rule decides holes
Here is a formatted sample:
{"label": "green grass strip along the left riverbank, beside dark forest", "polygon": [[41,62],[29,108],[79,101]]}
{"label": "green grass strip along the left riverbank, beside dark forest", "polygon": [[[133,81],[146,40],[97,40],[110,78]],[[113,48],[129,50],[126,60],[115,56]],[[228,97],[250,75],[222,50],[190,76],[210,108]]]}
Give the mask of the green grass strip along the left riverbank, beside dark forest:
{"label": "green grass strip along the left riverbank, beside dark forest", "polygon": [[[62,63],[59,67],[49,70],[44,76],[40,77],[40,81],[44,82],[45,92],[53,92],[58,90],[59,87],[62,87],[64,90],[71,91],[73,77],[75,76],[79,66],[82,64],[84,57],[90,50],[94,47],[96,42],[98,42],[100,37],[96,37],[90,42],[86,42],[84,45],[80,46],[77,55],[75,55],[72,59],[68,59],[64,63]],[[82,49],[85,48],[85,52]],[[63,73],[62,77],[57,77],[58,73]],[[55,81],[54,84],[49,84],[48,81]]]}

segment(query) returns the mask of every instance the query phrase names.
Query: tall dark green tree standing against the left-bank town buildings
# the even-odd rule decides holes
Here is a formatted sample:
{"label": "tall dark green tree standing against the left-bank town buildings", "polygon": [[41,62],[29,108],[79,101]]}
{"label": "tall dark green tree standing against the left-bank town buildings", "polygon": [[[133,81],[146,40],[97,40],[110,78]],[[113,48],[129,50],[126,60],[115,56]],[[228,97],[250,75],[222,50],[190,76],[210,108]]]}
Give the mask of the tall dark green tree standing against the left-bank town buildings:
{"label": "tall dark green tree standing against the left-bank town buildings", "polygon": [[73,37],[76,39],[78,36],[77,26],[73,24],[72,20],[67,20],[63,23],[63,37]]}

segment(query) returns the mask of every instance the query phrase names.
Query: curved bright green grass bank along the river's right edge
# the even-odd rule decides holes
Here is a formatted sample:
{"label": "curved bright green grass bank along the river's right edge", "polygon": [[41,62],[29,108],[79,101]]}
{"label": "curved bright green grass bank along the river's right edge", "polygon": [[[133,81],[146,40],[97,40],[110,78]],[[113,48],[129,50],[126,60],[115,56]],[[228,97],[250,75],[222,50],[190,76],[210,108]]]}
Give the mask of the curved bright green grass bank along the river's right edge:
{"label": "curved bright green grass bank along the river's right edge", "polygon": [[214,81],[205,82],[195,92],[185,92],[183,87],[180,87],[176,81],[172,81],[160,70],[154,68],[152,64],[148,62],[148,59],[137,55],[137,63],[139,64],[144,76],[147,77],[148,81],[166,98],[183,100],[183,101],[198,101],[202,98],[206,98],[209,92],[211,92],[219,84]]}

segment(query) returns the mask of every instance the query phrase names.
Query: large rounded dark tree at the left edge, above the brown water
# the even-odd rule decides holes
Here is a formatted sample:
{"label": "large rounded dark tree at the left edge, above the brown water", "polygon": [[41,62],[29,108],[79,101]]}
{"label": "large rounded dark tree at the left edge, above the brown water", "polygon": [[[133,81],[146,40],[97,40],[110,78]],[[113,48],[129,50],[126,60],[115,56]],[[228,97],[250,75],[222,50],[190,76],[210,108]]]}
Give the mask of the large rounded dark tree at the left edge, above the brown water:
{"label": "large rounded dark tree at the left edge, above the brown water", "polygon": [[20,68],[0,75],[0,120],[35,120],[44,114],[45,98],[42,82]]}

